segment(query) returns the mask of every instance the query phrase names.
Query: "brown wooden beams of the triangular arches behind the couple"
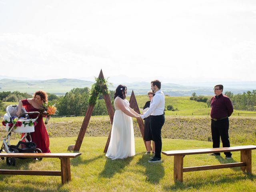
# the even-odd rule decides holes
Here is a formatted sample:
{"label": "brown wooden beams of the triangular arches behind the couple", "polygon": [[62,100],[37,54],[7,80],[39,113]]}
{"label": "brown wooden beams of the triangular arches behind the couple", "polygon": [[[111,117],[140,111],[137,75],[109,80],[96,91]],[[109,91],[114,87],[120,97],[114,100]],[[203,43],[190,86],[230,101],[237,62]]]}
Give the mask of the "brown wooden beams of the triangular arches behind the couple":
{"label": "brown wooden beams of the triangular arches behind the couple", "polygon": [[[98,78],[104,78],[102,70],[100,70],[100,74],[99,74]],[[114,109],[112,108],[112,104],[111,104],[111,101],[110,101],[110,96],[109,96],[109,94],[103,94],[103,97],[104,97],[104,100],[106,102],[106,107],[107,107],[107,110],[108,110],[108,115],[110,117],[110,122],[111,122],[111,124],[113,124]],[[138,114],[140,114],[140,110],[139,110],[139,107],[138,107],[138,104],[137,104],[137,101],[136,101],[136,98],[135,98],[133,90],[132,90],[132,95],[130,97],[130,107],[134,111],[136,111]],[[80,150],[80,147],[82,145],[86,129],[88,127],[90,118],[92,116],[93,109],[94,109],[94,106],[93,105],[89,105],[87,110],[86,110],[84,121],[82,123],[80,132],[78,134],[78,138],[76,140],[76,144],[74,146],[74,151],[79,151]],[[137,121],[138,121],[138,125],[140,127],[140,132],[141,132],[141,135],[142,135],[145,147],[146,147],[146,141],[144,140],[144,123],[143,123],[143,120],[142,119],[137,119]],[[106,153],[107,150],[108,150],[108,146],[109,146],[109,142],[110,142],[110,137],[111,137],[111,129],[110,129],[110,133],[108,135],[108,140],[106,142],[106,146],[104,148],[104,153]]]}

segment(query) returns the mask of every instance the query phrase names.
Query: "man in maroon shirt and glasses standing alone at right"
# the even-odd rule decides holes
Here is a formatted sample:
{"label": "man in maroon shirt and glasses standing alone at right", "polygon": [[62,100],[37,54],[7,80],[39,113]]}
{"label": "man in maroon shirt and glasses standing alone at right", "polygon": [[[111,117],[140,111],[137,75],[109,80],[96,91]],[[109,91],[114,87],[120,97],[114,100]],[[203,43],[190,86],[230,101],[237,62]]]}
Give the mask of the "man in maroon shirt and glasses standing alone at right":
{"label": "man in maroon shirt and glasses standing alone at right", "polygon": [[[230,147],[228,139],[229,120],[228,117],[233,112],[233,106],[230,99],[222,94],[223,85],[214,86],[214,94],[211,98],[211,129],[212,129],[212,142],[213,148],[220,147],[220,138],[223,147]],[[232,154],[230,152],[224,152],[226,158],[230,159]],[[214,153],[211,155],[220,155],[220,153]]]}

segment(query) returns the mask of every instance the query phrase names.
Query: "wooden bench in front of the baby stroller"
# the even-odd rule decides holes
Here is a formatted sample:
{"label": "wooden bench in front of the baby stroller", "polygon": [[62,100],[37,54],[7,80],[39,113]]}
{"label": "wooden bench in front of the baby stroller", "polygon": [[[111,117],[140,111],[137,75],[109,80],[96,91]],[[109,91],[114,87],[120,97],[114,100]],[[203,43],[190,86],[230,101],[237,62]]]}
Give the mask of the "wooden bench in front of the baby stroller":
{"label": "wooden bench in front of the baby stroller", "polygon": [[6,175],[43,175],[61,176],[62,184],[71,180],[70,158],[80,156],[81,153],[0,153],[1,157],[21,158],[60,158],[60,171],[38,171],[38,170],[0,170],[0,174]]}

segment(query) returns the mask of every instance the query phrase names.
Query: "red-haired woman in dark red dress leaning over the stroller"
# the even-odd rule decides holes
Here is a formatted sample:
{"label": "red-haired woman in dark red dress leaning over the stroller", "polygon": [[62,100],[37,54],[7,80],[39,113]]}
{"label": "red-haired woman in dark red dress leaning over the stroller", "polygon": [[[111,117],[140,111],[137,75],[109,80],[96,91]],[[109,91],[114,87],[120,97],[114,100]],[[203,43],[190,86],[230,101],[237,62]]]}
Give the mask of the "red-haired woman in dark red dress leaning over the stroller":
{"label": "red-haired woman in dark red dress leaning over the stroller", "polygon": [[[43,103],[48,102],[48,95],[44,91],[37,91],[34,93],[33,98],[23,99],[19,101],[17,116],[20,115],[21,107],[23,106],[27,112],[39,112],[42,108]],[[30,118],[36,118],[37,114],[29,115]],[[40,115],[36,120],[37,124],[35,126],[35,131],[30,133],[32,142],[36,143],[36,148],[40,148],[43,153],[50,153],[49,136],[47,134],[43,117]]]}

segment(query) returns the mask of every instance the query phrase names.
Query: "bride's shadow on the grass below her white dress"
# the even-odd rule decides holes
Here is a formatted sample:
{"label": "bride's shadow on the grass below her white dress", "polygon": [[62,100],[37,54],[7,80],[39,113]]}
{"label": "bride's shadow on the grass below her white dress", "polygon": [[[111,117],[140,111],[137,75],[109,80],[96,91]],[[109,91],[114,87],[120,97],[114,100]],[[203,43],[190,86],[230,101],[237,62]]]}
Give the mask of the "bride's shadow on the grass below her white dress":
{"label": "bride's shadow on the grass below her white dress", "polygon": [[99,174],[99,176],[104,178],[111,178],[114,176],[114,174],[121,173],[124,170],[124,168],[130,164],[132,159],[133,157],[116,160],[107,158],[104,169]]}

